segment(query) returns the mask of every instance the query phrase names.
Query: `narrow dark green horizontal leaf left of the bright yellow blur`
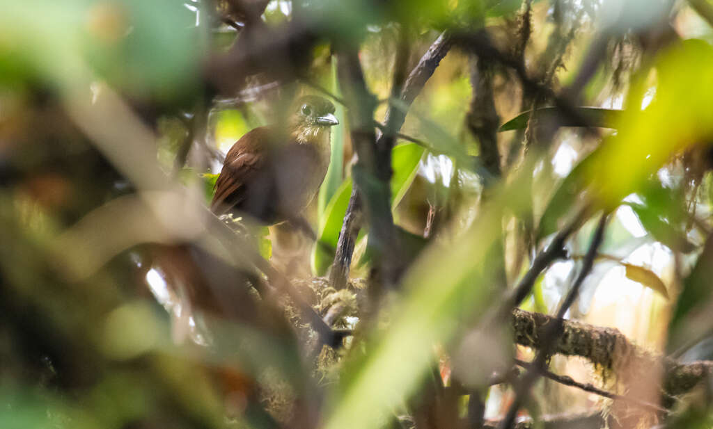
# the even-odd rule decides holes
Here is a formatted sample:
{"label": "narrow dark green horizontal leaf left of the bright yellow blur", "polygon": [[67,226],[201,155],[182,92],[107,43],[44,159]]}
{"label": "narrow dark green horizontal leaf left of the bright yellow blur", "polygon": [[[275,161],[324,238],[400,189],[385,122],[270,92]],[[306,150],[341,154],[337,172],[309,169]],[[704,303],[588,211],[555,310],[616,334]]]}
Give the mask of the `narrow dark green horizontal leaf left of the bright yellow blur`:
{"label": "narrow dark green horizontal leaf left of the bright yellow blur", "polygon": [[[541,122],[556,122],[560,127],[601,127],[616,128],[622,110],[602,109],[601,107],[574,107],[577,118],[564,115],[559,107],[540,107],[535,110],[535,117]],[[524,129],[528,126],[532,110],[520,113],[500,127],[501,132],[513,129]],[[581,119],[581,120],[580,120]]]}

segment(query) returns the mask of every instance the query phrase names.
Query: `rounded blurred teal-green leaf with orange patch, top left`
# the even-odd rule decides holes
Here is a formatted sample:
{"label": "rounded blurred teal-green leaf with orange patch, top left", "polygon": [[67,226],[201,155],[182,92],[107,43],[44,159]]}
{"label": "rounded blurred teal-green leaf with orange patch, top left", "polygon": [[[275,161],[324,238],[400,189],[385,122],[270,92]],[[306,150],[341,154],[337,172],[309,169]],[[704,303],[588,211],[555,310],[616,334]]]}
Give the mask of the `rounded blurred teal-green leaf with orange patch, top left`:
{"label": "rounded blurred teal-green leaf with orange patch, top left", "polygon": [[180,2],[96,2],[86,16],[83,51],[113,87],[158,99],[196,88],[200,37],[195,14]]}

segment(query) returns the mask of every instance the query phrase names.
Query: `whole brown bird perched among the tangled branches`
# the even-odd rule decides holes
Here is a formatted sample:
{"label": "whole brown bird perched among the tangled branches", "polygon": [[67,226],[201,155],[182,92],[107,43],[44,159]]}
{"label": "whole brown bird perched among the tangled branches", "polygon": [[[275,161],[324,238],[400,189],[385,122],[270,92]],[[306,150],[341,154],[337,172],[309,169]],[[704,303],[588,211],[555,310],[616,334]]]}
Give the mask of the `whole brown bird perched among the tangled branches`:
{"label": "whole brown bird perched among the tangled branches", "polygon": [[210,209],[267,225],[298,220],[327,174],[329,127],[338,123],[329,100],[300,97],[287,127],[255,128],[232,145]]}

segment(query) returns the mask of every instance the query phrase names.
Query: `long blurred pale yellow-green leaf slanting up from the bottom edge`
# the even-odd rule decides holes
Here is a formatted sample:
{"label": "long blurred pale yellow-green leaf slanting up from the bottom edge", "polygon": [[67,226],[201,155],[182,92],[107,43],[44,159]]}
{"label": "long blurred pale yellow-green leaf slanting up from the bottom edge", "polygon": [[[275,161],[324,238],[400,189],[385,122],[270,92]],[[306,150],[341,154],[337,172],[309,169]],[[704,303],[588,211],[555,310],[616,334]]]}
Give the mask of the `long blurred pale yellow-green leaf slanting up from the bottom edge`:
{"label": "long blurred pale yellow-green leaf slanting up from the bottom edge", "polygon": [[[495,192],[491,204],[521,201],[505,189]],[[483,261],[495,243],[501,222],[498,211],[483,211],[468,231],[447,247],[434,243],[411,265],[404,278],[404,301],[392,308],[388,330],[372,332],[366,349],[344,362],[340,383],[332,398],[327,429],[382,427],[389,413],[414,391],[434,362],[434,344],[447,344],[463,317],[483,314],[491,302],[493,282],[484,278]],[[437,287],[434,287],[437,285]],[[467,316],[466,316],[467,314]],[[495,341],[508,341],[493,337]],[[492,348],[488,350],[490,352]],[[486,361],[485,356],[472,356]],[[473,371],[490,374],[488,365]],[[483,376],[485,378],[486,376]],[[374,387],[376,386],[376,388]]]}

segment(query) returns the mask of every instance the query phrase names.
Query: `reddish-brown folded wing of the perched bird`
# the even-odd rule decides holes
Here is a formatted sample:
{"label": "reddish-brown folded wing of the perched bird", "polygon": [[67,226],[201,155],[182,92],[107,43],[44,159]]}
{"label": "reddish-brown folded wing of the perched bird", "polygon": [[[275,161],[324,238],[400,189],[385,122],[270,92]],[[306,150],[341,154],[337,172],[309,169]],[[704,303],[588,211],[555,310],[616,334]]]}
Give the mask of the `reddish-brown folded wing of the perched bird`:
{"label": "reddish-brown folded wing of the perched bird", "polygon": [[215,181],[210,210],[222,214],[245,200],[245,183],[265,165],[262,147],[272,138],[267,127],[255,128],[240,138],[225,155],[225,162]]}

